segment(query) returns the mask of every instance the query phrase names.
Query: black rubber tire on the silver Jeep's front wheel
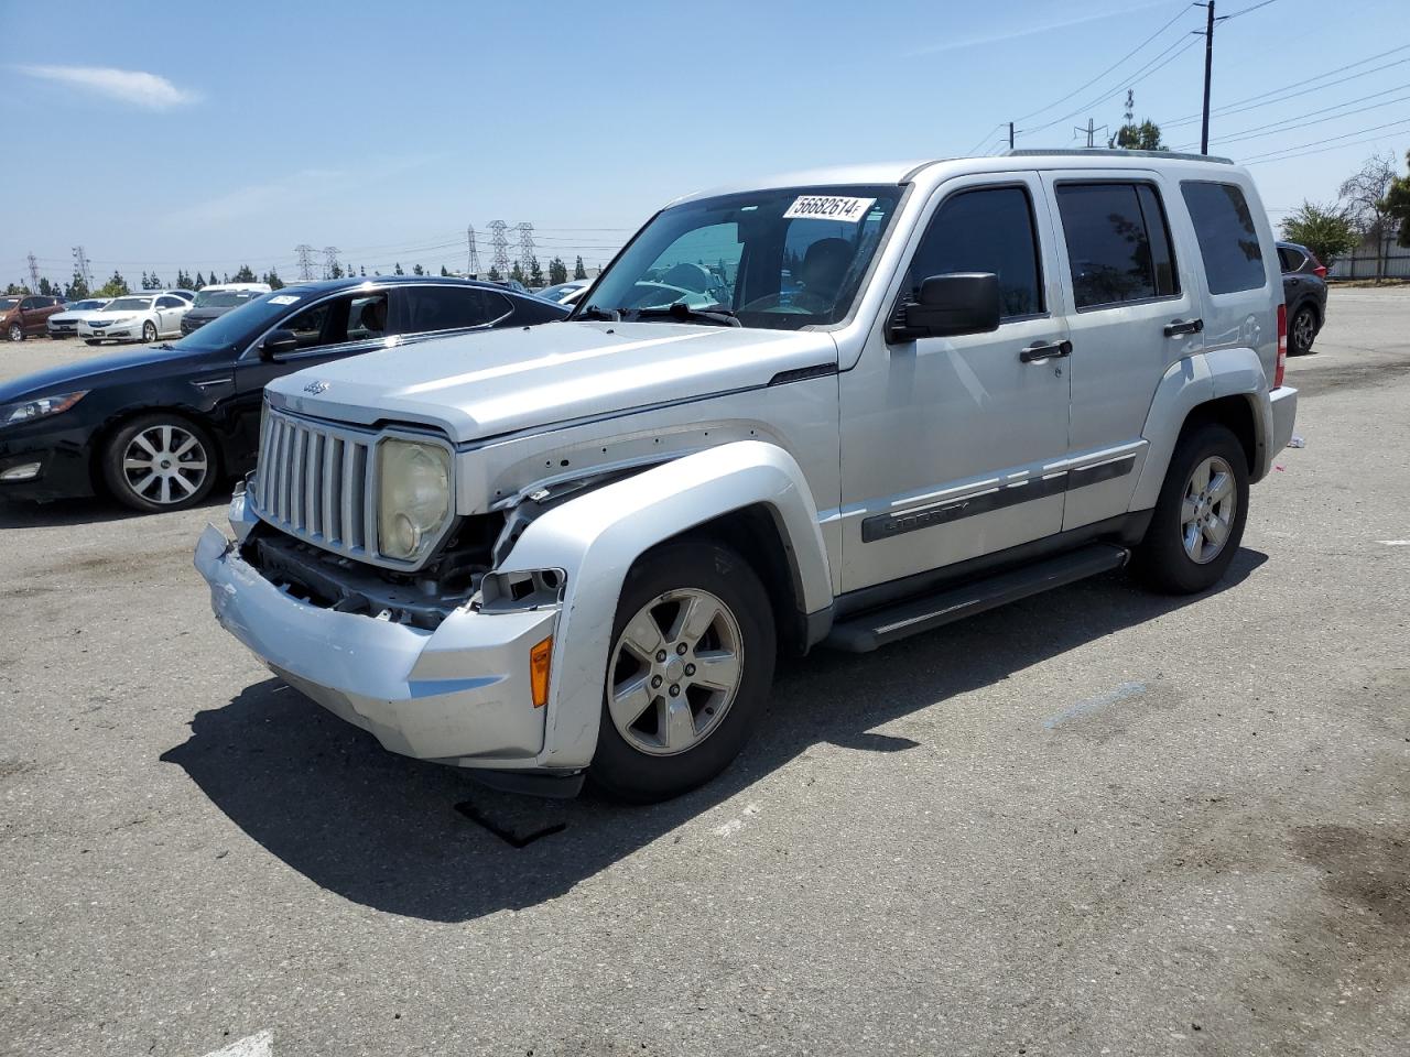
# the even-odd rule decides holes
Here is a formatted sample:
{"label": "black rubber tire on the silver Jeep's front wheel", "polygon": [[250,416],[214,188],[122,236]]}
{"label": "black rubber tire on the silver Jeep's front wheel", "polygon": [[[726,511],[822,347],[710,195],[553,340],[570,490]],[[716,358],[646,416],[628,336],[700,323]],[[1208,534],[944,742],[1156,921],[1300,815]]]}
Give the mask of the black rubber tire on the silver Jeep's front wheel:
{"label": "black rubber tire on the silver Jeep's front wheel", "polygon": [[[709,703],[715,699],[708,696],[709,691],[704,691],[706,696],[701,699],[701,688],[689,686],[687,685],[688,679],[681,678],[677,685],[685,686],[685,692],[675,698],[674,705],[680,706],[681,702],[685,702],[691,709],[701,709],[691,720],[691,729],[702,731],[701,740],[675,754],[653,754],[623,736],[608,705],[622,665],[642,664],[630,651],[625,653],[625,661],[619,661],[619,645],[626,626],[653,599],[664,599],[671,593],[688,591],[706,592],[713,596],[733,619],[735,624],[730,631],[737,630],[739,633],[739,676],[733,696],[725,703],[718,720],[709,719],[715,715]],[[660,614],[664,609],[668,617],[673,605],[675,603],[661,602],[656,613]],[[670,638],[673,629],[663,627],[658,617],[654,626],[664,631],[666,638]],[[713,630],[706,631],[706,637],[713,634]],[[688,636],[682,636],[682,640],[688,638]],[[705,641],[702,637],[691,643],[689,653],[682,660],[697,657],[695,650]],[[723,771],[749,741],[749,736],[764,710],[774,679],[776,641],[768,593],[749,562],[730,548],[708,538],[695,538],[666,544],[639,558],[622,588],[616,620],[612,626],[612,651],[608,657],[602,723],[598,731],[596,753],[588,771],[591,782],[618,799],[651,803],[680,796]],[[718,640],[708,643],[706,648],[711,648],[712,644],[718,644]],[[625,647],[622,648],[625,650]],[[667,664],[675,662],[671,653],[674,648],[668,653]],[[650,669],[643,667],[643,671],[649,672]],[[629,676],[630,672],[623,678]],[[647,712],[664,716],[664,709],[671,707],[671,702],[667,699],[668,689],[666,685],[661,686],[661,692],[654,695],[656,703]],[[705,715],[706,712],[709,716]],[[644,716],[646,713],[643,713]],[[658,722],[664,724],[666,720],[663,717]],[[713,727],[709,726],[711,723]],[[647,734],[639,733],[634,726],[629,730],[637,741],[647,737]],[[667,750],[663,747],[657,751],[666,753]]]}

